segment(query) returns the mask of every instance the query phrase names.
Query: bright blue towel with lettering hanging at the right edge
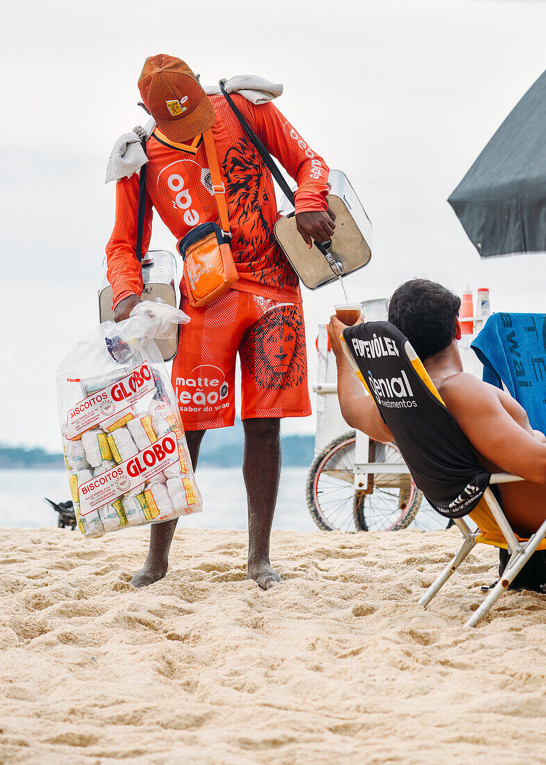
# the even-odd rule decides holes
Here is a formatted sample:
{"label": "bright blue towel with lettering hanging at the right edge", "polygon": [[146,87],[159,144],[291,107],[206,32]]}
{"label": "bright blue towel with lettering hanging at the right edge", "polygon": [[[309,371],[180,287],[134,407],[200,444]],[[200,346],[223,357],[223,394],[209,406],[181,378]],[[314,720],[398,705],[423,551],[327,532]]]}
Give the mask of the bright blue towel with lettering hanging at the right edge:
{"label": "bright blue towel with lettering hanging at the right edge", "polygon": [[483,381],[498,388],[504,382],[531,428],[546,434],[546,314],[493,314],[471,348]]}

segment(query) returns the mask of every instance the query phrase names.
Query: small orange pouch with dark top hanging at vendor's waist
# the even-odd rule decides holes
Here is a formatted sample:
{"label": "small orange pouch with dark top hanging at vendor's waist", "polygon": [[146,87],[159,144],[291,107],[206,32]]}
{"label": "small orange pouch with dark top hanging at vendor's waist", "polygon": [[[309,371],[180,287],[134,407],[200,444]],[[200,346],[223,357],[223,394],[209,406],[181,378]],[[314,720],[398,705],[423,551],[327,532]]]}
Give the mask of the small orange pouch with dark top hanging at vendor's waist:
{"label": "small orange pouch with dark top hanging at vendor's waist", "polygon": [[239,275],[230,237],[217,223],[202,223],[178,243],[184,261],[184,282],[194,308],[211,303],[232,287]]}

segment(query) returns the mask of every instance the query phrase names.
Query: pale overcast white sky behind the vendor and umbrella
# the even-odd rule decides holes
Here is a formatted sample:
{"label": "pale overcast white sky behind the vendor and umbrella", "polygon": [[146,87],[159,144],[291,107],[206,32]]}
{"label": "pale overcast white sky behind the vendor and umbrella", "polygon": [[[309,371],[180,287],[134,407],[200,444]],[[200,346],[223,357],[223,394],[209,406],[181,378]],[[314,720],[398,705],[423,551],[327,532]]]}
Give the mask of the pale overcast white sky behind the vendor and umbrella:
{"label": "pale overcast white sky behind the vendor and umbrella", "polygon": [[[97,324],[114,184],[111,145],[142,124],[147,56],[183,58],[202,83],[254,73],[284,84],[276,105],[373,224],[370,265],[350,300],[426,276],[459,294],[489,287],[493,310],[544,311],[542,254],[480,261],[447,197],[546,67],[542,0],[52,0],[2,15],[0,442],[59,451],[55,373]],[[154,216],[153,249],[176,242]],[[315,337],[341,301],[304,293],[309,379]],[[286,420],[313,432],[314,417]]]}

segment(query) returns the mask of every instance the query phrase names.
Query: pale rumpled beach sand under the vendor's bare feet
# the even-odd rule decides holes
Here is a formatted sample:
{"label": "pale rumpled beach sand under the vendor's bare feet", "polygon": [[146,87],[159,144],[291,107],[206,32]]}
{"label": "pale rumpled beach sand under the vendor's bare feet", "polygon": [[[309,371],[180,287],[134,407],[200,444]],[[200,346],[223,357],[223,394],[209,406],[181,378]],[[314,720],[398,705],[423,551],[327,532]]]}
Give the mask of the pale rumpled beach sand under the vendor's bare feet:
{"label": "pale rumpled beach sand under the vendor's bare feet", "polygon": [[268,592],[245,533],[195,529],[137,591],[147,536],[0,530],[0,762],[546,760],[546,598],[463,628],[495,549],[424,611],[457,529],[274,532]]}

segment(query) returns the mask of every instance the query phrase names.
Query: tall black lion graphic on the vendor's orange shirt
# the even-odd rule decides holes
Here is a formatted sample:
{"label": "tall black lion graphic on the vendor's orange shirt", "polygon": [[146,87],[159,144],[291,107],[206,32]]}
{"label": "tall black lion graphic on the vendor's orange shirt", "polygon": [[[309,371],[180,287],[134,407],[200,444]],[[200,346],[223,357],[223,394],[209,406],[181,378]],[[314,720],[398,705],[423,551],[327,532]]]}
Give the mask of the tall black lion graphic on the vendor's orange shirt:
{"label": "tall black lion graphic on the vendor's orange shirt", "polygon": [[[260,282],[278,287],[286,285],[296,287],[298,277],[286,258],[276,246],[273,223],[262,213],[262,203],[267,202],[269,195],[263,191],[264,166],[260,155],[253,145],[238,141],[228,150],[224,160],[224,171],[228,179],[228,198],[230,207],[233,203],[237,211],[233,216],[236,227],[234,232],[234,255],[244,252],[245,259],[254,252],[260,263],[256,269]],[[269,259],[263,265],[263,253],[273,249],[275,261]]]}

